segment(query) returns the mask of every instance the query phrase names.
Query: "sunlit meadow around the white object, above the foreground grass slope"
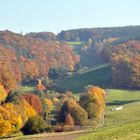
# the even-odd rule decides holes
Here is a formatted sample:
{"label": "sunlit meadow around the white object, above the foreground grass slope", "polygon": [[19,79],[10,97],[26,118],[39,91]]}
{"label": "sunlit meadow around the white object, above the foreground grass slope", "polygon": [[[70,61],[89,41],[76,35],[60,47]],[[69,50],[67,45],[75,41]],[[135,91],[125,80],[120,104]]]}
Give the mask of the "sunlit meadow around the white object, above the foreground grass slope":
{"label": "sunlit meadow around the white object, above the foreground grass slope", "polygon": [[[112,108],[119,106],[124,108],[111,111]],[[140,91],[109,90],[106,97],[106,110],[106,126],[140,120]]]}

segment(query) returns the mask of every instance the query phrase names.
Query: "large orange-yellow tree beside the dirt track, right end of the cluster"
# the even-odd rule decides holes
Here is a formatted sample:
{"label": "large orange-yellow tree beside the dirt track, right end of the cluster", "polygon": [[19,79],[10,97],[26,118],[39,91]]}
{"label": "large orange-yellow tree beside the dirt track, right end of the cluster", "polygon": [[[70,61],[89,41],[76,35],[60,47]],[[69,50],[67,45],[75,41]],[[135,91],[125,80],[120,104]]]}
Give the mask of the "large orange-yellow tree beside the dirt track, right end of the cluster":
{"label": "large orange-yellow tree beside the dirt track, right end of the cluster", "polygon": [[105,91],[99,87],[87,86],[86,93],[80,98],[80,105],[88,113],[88,118],[100,118],[105,110]]}

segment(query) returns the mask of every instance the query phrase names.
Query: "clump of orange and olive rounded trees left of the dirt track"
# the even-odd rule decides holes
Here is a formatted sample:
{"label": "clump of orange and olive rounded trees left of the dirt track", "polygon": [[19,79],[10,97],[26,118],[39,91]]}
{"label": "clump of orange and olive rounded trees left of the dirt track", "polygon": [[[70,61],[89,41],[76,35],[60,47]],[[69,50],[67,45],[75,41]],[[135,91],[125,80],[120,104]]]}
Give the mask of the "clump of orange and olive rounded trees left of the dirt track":
{"label": "clump of orange and olive rounded trees left of the dirt track", "polygon": [[73,98],[63,103],[59,113],[60,122],[65,125],[97,125],[105,111],[104,99],[103,89],[87,86],[79,103]]}

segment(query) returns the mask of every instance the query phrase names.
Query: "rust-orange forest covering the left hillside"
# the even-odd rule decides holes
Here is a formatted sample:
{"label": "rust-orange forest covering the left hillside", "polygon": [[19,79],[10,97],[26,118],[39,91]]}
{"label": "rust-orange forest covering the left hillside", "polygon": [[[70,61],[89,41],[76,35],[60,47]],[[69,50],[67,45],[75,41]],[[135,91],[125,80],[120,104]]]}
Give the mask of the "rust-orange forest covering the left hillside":
{"label": "rust-orange forest covering the left hillside", "polygon": [[7,91],[21,81],[47,77],[50,68],[71,71],[80,61],[66,44],[32,36],[0,32],[0,82]]}

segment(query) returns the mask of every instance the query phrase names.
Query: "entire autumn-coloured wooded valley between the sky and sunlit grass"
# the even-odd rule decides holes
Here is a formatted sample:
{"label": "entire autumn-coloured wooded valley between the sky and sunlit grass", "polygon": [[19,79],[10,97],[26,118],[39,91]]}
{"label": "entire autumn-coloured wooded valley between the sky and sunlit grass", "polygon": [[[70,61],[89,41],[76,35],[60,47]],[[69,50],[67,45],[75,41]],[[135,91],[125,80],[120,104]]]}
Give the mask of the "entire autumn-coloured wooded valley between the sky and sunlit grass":
{"label": "entire autumn-coloured wooded valley between the sky and sunlit grass", "polygon": [[101,127],[108,89],[140,90],[140,26],[0,31],[0,138]]}

